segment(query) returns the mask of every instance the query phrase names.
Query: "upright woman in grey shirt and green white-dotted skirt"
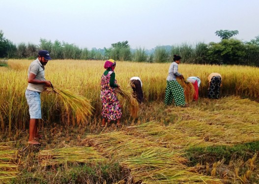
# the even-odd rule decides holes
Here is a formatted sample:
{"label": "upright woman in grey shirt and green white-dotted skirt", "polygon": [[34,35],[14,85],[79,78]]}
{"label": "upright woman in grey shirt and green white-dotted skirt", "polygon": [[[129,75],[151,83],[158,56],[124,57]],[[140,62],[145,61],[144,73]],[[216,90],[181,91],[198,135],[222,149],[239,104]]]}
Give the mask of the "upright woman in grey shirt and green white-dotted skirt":
{"label": "upright woman in grey shirt and green white-dotted skirt", "polygon": [[187,107],[185,103],[184,91],[182,86],[177,82],[176,77],[183,79],[183,75],[178,73],[178,64],[181,61],[181,56],[173,55],[173,63],[169,67],[167,77],[167,87],[165,95],[165,105],[171,105],[174,99],[175,106]]}

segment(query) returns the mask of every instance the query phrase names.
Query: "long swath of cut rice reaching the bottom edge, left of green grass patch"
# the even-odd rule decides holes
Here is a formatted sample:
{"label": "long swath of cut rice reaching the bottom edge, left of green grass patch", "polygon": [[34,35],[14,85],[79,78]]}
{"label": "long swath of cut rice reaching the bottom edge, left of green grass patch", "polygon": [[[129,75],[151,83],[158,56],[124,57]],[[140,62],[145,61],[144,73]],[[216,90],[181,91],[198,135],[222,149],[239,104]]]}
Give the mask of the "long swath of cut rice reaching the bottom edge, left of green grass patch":
{"label": "long swath of cut rice reaching the bottom edge, left of green grass patch", "polygon": [[[128,131],[130,130],[132,129]],[[221,184],[218,179],[190,172],[185,165],[188,159],[183,157],[184,152],[159,146],[158,141],[150,141],[147,136],[129,135],[128,131],[88,135],[83,142],[96,147],[106,157],[129,169],[133,183]]]}

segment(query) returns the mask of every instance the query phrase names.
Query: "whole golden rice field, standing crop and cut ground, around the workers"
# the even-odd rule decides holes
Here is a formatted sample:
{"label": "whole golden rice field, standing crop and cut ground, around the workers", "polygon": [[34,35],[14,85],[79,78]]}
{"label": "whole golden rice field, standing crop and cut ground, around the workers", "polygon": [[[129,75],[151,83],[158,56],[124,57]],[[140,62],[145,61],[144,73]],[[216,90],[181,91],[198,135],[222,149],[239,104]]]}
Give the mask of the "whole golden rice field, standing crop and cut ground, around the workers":
{"label": "whole golden rice field, standing crop and cut ground, around the workers", "polygon": [[[25,99],[31,60],[0,67],[0,183],[258,183],[259,69],[180,64],[185,78],[201,78],[200,101],[188,108],[163,104],[170,63],[117,62],[116,79],[143,81],[145,102],[139,117],[123,105],[121,128],[100,127],[103,61],[56,60],[46,79],[92,100],[93,116],[72,124],[51,93],[42,94],[41,146],[29,146]],[[219,100],[209,100],[207,76],[222,75]],[[55,104],[57,102],[57,104]],[[68,125],[68,121],[72,122]]]}

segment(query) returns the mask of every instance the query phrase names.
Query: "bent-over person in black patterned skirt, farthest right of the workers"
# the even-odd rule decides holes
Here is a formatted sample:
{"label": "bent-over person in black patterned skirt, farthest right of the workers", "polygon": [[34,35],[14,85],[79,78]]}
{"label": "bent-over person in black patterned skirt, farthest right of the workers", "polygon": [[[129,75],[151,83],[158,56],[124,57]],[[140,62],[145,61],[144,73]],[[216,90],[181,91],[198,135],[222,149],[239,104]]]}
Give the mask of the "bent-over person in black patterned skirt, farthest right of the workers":
{"label": "bent-over person in black patterned skirt, farthest right of the workers", "polygon": [[222,86],[222,77],[219,73],[211,73],[208,76],[209,81],[209,91],[208,98],[219,99],[220,87]]}

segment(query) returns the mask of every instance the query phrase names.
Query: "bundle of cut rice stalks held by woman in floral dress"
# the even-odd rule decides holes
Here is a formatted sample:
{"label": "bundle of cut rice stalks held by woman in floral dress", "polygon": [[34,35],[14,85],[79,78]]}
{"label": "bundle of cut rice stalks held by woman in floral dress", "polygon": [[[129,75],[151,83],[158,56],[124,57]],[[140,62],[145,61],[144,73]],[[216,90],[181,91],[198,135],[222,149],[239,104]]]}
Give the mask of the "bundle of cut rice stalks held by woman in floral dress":
{"label": "bundle of cut rice stalks held by woman in floral dress", "polygon": [[139,103],[130,91],[119,88],[117,92],[130,103],[130,116],[133,118],[138,117]]}

